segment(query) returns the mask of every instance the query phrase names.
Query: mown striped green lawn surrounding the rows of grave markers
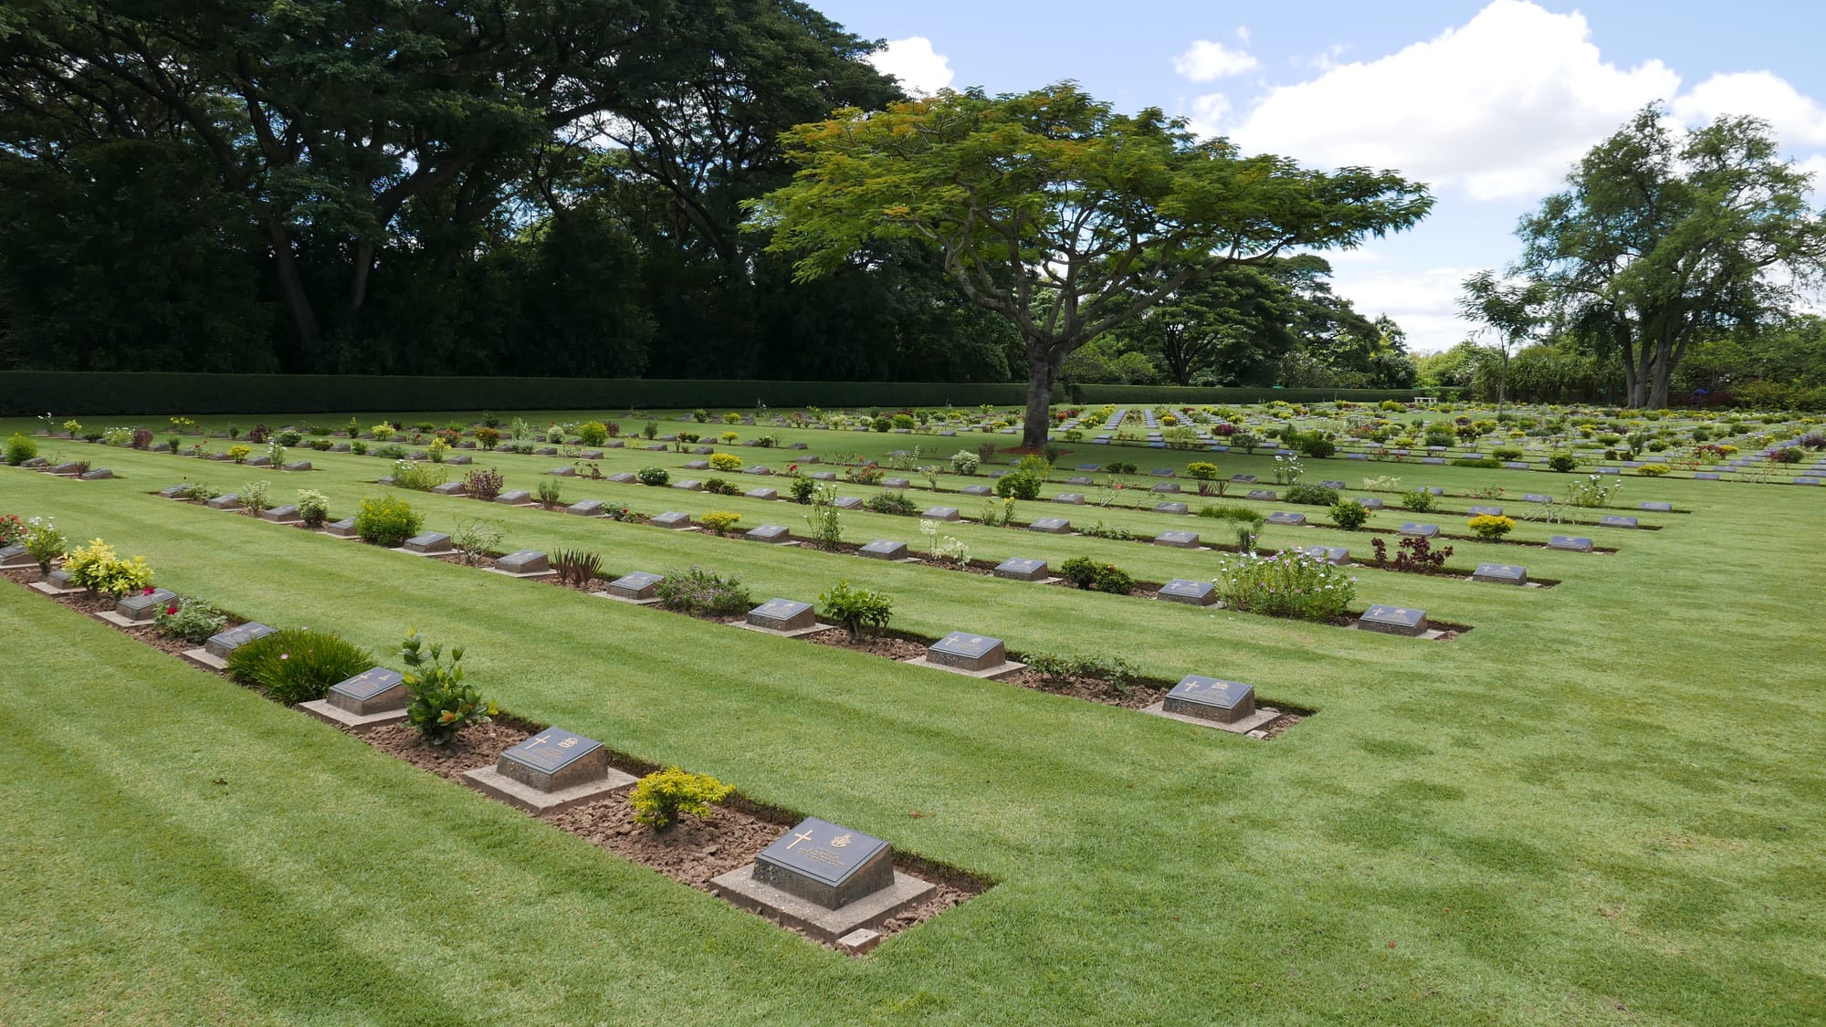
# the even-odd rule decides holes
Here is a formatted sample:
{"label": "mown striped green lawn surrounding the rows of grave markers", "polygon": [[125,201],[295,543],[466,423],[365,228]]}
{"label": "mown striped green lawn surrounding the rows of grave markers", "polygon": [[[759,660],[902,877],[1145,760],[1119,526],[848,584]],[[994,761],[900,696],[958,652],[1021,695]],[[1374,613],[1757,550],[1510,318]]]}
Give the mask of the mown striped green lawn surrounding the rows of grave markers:
{"label": "mown striped green lawn surrounding the rows of grave markers", "polygon": [[[778,435],[827,459],[920,444],[942,461],[982,439]],[[121,477],[5,468],[0,512],[51,514],[71,543],[144,554],[159,585],[336,630],[383,663],[416,625],[466,645],[471,682],[519,716],[995,886],[845,958],[0,583],[4,1023],[1826,1020],[1826,490],[1631,477],[1618,512],[1669,499],[1691,514],[1642,514],[1656,532],[1570,532],[1616,554],[1453,543],[1455,565],[1527,563],[1561,581],[1547,590],[1357,572],[1355,609],[1419,605],[1472,625],[1453,641],[405,495],[431,530],[504,521],[506,550],[582,546],[615,572],[699,563],[741,574],[756,601],[816,601],[847,577],[889,592],[909,632],[1121,654],[1154,678],[1251,682],[1265,704],[1317,711],[1260,742],[150,495],[186,475],[223,490],[267,479],[278,501],[325,492],[340,517],[389,492],[367,484],[385,473],[376,459],[296,450],[318,470],[279,475],[47,450]],[[1138,462],[1136,481],[1203,459],[1079,450]],[[794,459],[732,451],[780,470]],[[612,451],[603,471],[677,479],[687,459]],[[477,462],[531,490],[564,461]],[[1216,462],[1273,488],[1265,455]],[[1307,479],[1373,473],[1448,495],[1567,481],[1342,461],[1313,461]],[[805,532],[796,504],[564,490]],[[1026,503],[1021,515],[1225,534],[1145,510]],[[1373,524],[1406,519],[1464,521],[1391,510]],[[1152,581],[1216,568],[1209,552],[953,534],[977,557],[1088,554]],[[915,519],[878,514],[845,514],[845,537],[922,541]],[[1328,526],[1264,534],[1295,539],[1368,550]]]}

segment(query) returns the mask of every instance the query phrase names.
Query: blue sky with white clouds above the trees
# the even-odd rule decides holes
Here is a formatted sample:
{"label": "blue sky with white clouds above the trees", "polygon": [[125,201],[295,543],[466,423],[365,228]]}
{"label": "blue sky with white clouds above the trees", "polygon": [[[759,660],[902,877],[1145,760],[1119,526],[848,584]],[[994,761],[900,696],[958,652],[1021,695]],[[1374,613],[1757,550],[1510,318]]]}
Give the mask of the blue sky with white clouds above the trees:
{"label": "blue sky with white clouds above the trees", "polygon": [[1419,351],[1464,338],[1457,283],[1510,261],[1516,219],[1647,101],[1685,124],[1766,117],[1826,172],[1815,0],[811,2],[889,40],[878,64],[915,90],[1076,79],[1249,152],[1432,183],[1439,205],[1419,228],[1333,254],[1338,292],[1397,318]]}

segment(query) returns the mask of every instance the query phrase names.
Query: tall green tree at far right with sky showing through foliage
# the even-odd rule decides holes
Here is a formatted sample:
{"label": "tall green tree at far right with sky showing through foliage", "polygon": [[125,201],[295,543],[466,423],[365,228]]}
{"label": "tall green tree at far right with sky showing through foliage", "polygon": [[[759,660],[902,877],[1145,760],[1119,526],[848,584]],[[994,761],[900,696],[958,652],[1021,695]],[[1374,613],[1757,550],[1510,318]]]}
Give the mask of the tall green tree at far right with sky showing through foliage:
{"label": "tall green tree at far right with sky showing through foliage", "polygon": [[1629,406],[1665,408],[1695,340],[1779,314],[1819,278],[1810,188],[1768,122],[1720,117],[1676,139],[1649,104],[1523,217],[1517,270],[1552,289],[1574,338],[1621,356]]}

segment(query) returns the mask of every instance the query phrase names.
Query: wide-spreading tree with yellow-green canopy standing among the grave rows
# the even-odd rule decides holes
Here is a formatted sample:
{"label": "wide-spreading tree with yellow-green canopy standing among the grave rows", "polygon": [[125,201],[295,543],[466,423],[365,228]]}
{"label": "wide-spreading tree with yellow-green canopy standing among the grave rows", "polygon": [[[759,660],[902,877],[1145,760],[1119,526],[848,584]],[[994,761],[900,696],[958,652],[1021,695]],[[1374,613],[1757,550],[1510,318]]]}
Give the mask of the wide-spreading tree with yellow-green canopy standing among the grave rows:
{"label": "wide-spreading tree with yellow-green canopy standing among the grave rows", "polygon": [[1024,446],[1046,440],[1065,358],[1180,289],[1293,249],[1351,247],[1413,225],[1426,186],[1393,172],[1315,172],[1198,141],[1061,82],[847,108],[785,135],[802,168],[754,205],[772,250],[814,280],[875,239],[939,250],[971,302],[1008,318],[1028,358]]}

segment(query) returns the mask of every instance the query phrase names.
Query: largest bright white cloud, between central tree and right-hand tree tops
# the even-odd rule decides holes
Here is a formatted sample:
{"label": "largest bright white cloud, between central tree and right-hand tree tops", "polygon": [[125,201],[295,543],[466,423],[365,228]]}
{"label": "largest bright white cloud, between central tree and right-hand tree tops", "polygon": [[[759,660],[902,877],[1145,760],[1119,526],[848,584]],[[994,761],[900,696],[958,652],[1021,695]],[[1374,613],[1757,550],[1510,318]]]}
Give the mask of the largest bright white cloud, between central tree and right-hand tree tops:
{"label": "largest bright white cloud, between central tree and right-hand tree tops", "polygon": [[1269,90],[1231,135],[1326,166],[1397,168],[1474,199],[1532,199],[1680,77],[1607,64],[1583,15],[1494,0],[1463,27]]}

